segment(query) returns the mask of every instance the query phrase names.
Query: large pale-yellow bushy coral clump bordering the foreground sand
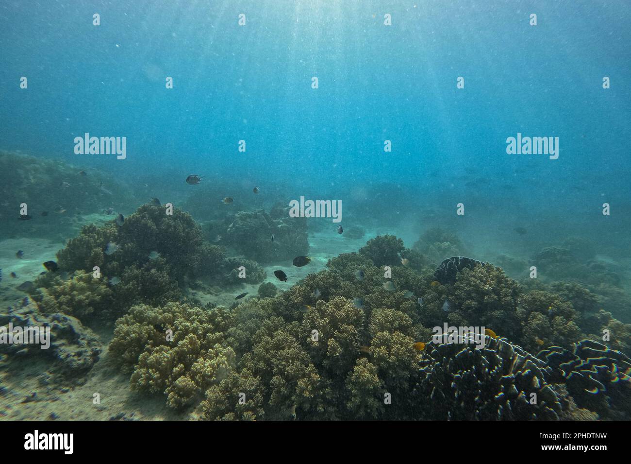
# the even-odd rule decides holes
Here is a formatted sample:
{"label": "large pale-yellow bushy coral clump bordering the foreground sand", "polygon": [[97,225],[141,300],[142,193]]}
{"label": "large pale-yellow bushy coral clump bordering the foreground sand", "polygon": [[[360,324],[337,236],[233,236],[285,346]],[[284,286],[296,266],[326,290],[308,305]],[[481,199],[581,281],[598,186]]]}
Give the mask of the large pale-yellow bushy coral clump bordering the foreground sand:
{"label": "large pale-yellow bushy coral clump bordering the foreground sand", "polygon": [[109,350],[132,371],[134,390],[163,393],[168,406],[185,407],[232,370],[235,353],[222,332],[231,317],[222,308],[179,303],[134,306],[116,321]]}

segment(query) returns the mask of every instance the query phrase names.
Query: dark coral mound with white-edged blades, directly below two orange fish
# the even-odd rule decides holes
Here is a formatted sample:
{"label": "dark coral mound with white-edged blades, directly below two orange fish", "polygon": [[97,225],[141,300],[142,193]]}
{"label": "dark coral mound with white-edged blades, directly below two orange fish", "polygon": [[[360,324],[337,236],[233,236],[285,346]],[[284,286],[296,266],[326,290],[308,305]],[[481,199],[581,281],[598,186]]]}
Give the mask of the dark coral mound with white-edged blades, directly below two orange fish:
{"label": "dark coral mound with white-edged blades, directly below two orange fish", "polygon": [[504,338],[486,336],[481,349],[463,337],[430,343],[418,364],[414,396],[423,419],[558,420],[563,414],[545,362]]}

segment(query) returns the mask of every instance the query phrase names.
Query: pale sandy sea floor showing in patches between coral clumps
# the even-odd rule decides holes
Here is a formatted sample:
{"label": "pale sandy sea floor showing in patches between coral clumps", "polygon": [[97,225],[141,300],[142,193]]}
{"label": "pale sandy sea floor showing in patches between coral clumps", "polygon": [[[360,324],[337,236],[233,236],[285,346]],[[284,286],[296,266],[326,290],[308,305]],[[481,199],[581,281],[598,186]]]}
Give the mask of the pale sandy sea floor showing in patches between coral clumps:
{"label": "pale sandy sea floor showing in patches between coral clumps", "polygon": [[[276,263],[265,267],[266,282],[273,282],[281,290],[288,290],[307,274],[326,267],[330,258],[340,253],[357,251],[366,241],[381,231],[373,231],[362,239],[346,239],[343,235],[315,232],[309,235],[308,266],[296,268],[291,263]],[[24,292],[15,287],[26,280],[35,280],[44,271],[42,263],[56,259],[55,254],[64,246],[62,242],[45,239],[7,239],[0,241],[0,307],[6,309],[20,304]],[[21,249],[24,257],[16,258]],[[283,270],[288,282],[274,277],[275,270]],[[11,278],[15,272],[18,277]],[[227,289],[216,294],[204,294],[191,290],[191,294],[204,303],[230,306],[237,294],[248,292],[245,299],[257,295],[259,284],[243,285],[239,289]],[[165,405],[161,395],[148,396],[131,391],[129,374],[120,372],[109,361],[108,346],[113,326],[94,328],[102,343],[100,357],[88,374],[85,383],[73,388],[60,388],[50,381],[50,364],[44,360],[25,360],[19,371],[0,369],[0,420],[186,420],[195,419],[194,412],[177,412]],[[15,366],[12,363],[11,366]],[[95,393],[100,403],[95,404]]]}

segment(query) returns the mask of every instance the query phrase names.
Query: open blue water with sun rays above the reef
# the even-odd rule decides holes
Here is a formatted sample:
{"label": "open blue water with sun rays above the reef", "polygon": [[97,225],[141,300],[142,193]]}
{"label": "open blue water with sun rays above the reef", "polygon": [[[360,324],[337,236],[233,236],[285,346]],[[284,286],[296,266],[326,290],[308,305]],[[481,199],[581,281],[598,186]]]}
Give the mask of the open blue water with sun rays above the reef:
{"label": "open blue water with sun rays above the reef", "polygon": [[[625,4],[6,2],[0,147],[153,178],[156,195],[201,174],[389,211],[402,235],[419,210],[453,220],[462,202],[458,227],[480,240],[564,223],[628,250]],[[127,158],[75,155],[84,133],[125,136]],[[558,159],[508,155],[517,133],[558,137]]]}

